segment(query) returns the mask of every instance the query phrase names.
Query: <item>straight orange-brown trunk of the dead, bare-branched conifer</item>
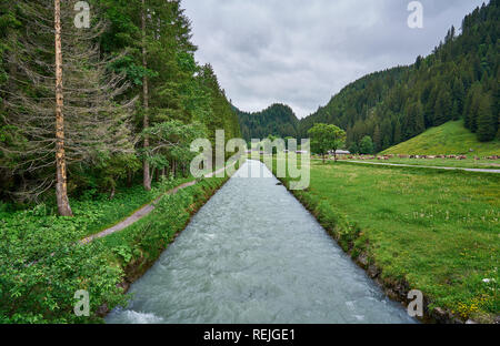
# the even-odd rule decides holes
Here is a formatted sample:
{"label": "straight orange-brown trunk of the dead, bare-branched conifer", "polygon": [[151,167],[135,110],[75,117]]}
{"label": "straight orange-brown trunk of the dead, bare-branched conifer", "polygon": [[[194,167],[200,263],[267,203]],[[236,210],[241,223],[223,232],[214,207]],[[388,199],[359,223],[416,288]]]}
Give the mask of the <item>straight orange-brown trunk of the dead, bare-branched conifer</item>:
{"label": "straight orange-brown trunk of the dead, bare-branched conifer", "polygon": [[61,44],[61,0],[54,0],[54,29],[56,29],[56,167],[57,183],[56,197],[59,215],[73,216],[69,200],[64,153],[64,105],[62,95],[62,44]]}

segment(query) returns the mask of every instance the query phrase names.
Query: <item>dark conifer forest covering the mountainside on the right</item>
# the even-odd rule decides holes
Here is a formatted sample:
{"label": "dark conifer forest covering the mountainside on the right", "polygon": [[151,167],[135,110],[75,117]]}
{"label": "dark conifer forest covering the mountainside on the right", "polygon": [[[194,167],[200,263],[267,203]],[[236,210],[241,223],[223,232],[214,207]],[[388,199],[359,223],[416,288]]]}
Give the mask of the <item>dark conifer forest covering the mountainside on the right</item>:
{"label": "dark conifer forest covering the mountainside on the right", "polygon": [[451,28],[427,58],[367,75],[346,86],[323,108],[300,122],[300,135],[314,123],[347,130],[347,145],[357,152],[370,136],[381,151],[431,126],[464,119],[482,142],[499,135],[500,1],[477,8]]}

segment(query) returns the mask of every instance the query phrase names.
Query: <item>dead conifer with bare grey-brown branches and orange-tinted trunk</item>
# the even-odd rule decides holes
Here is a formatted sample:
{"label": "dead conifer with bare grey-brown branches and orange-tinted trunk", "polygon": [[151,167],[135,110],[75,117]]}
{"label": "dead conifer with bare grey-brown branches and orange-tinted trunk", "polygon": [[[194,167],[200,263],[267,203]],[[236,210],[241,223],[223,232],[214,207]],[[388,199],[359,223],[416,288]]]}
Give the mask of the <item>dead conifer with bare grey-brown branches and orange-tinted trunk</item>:
{"label": "dead conifer with bare grey-brown branches and orange-tinted trunk", "polygon": [[76,28],[74,2],[17,2],[26,32],[10,38],[8,60],[14,69],[0,90],[6,123],[16,134],[16,142],[0,143],[0,150],[14,162],[11,173],[30,181],[12,194],[37,199],[56,184],[64,216],[72,214],[71,164],[91,165],[103,153],[132,153],[136,142],[129,125],[134,100],[116,101],[129,85],[109,69],[112,61],[96,43],[106,26],[94,21],[90,29]]}

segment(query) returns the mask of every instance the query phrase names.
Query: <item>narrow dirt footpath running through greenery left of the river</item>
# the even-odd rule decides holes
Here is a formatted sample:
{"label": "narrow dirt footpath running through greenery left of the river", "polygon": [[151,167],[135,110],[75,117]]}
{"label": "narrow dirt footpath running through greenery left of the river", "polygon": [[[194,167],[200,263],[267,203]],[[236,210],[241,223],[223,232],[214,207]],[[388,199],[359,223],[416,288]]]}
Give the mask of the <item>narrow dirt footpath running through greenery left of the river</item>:
{"label": "narrow dirt footpath running through greenery left of the river", "polygon": [[[229,165],[229,166],[231,166],[231,165]],[[213,175],[217,175],[218,173],[223,172],[229,166],[226,166],[226,167],[222,167],[222,169],[220,169],[220,170],[218,170],[216,172],[206,174],[204,177],[212,177]],[[81,244],[89,244],[89,243],[91,243],[92,241],[94,241],[97,238],[101,238],[101,237],[108,236],[110,234],[113,234],[113,233],[117,233],[117,232],[120,232],[120,231],[127,228],[128,226],[134,224],[136,222],[138,222],[142,217],[149,215],[154,210],[156,205],[161,201],[161,199],[163,196],[176,194],[180,190],[193,186],[197,183],[198,183],[198,181],[194,180],[194,181],[191,181],[191,182],[188,182],[188,183],[183,183],[183,184],[181,184],[181,185],[179,185],[177,187],[173,187],[173,189],[167,191],[166,193],[161,194],[158,199],[156,199],[152,203],[141,207],[139,211],[134,212],[132,215],[130,215],[126,220],[119,222],[118,224],[116,224],[114,226],[112,226],[110,228],[107,228],[107,230],[104,230],[102,232],[99,232],[97,234],[92,234],[91,236],[88,236],[84,240],[81,240],[80,243]]]}

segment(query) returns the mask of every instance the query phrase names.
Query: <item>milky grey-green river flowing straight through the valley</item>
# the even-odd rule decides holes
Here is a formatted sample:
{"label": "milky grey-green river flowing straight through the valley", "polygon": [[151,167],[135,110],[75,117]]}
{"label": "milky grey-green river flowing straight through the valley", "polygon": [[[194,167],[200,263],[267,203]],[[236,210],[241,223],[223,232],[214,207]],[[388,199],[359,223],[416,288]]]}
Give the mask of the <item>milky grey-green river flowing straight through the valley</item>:
{"label": "milky grey-green river flowing straight through the valley", "polygon": [[277,183],[248,161],[107,323],[414,323]]}

